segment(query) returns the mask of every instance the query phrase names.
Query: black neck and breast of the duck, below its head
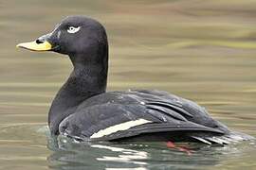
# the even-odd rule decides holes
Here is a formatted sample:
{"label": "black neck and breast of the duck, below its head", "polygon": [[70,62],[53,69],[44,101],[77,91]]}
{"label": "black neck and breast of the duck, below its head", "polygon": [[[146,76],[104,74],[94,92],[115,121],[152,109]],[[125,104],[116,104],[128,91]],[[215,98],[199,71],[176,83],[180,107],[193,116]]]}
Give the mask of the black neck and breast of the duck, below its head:
{"label": "black neck and breast of the duck, below its head", "polygon": [[52,134],[59,133],[59,124],[65,117],[75,112],[87,98],[104,93],[107,84],[108,53],[95,53],[90,56],[72,55],[74,69],[64,86],[55,96],[48,115]]}

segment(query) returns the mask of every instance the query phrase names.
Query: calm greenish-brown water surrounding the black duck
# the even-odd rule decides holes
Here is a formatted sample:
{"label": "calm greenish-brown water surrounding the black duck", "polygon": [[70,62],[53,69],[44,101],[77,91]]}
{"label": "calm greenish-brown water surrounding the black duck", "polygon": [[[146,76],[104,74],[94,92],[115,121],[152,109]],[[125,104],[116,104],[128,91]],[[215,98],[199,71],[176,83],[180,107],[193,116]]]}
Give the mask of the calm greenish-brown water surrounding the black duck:
{"label": "calm greenish-brown water surrounding the black duck", "polygon": [[70,144],[48,138],[47,110],[68,58],[16,49],[61,19],[99,20],[110,44],[108,90],[158,89],[192,99],[230,128],[256,136],[256,0],[2,0],[0,169],[256,169],[254,142]]}

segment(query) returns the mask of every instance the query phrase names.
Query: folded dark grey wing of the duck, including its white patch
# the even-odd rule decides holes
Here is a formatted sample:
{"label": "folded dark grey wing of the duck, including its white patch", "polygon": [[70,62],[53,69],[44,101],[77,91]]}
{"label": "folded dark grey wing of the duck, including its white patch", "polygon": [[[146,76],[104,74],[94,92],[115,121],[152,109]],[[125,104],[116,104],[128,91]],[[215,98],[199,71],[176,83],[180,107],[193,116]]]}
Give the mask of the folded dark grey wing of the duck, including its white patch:
{"label": "folded dark grey wing of the duck, including its white patch", "polygon": [[[66,117],[59,131],[82,141],[115,141],[152,136],[168,140],[176,136],[187,139],[193,136],[199,138],[196,134],[225,134],[221,128],[193,122],[198,113],[188,110],[189,105],[184,107],[184,101],[181,102],[175,95],[158,91],[102,93],[85,101],[75,113]],[[205,115],[205,118],[208,117]]]}

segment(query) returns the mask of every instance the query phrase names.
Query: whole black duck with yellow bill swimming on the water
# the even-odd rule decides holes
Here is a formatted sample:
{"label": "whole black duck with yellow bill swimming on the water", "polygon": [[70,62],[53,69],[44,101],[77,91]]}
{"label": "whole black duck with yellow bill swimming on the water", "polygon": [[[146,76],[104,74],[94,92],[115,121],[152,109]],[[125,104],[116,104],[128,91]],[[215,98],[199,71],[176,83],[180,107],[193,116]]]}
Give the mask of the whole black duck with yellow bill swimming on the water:
{"label": "whole black duck with yellow bill swimming on the water", "polygon": [[210,117],[203,107],[171,93],[106,92],[105,28],[85,16],[68,16],[34,42],[17,45],[69,57],[73,71],[48,112],[51,134],[78,141],[174,141],[229,144],[247,140]]}

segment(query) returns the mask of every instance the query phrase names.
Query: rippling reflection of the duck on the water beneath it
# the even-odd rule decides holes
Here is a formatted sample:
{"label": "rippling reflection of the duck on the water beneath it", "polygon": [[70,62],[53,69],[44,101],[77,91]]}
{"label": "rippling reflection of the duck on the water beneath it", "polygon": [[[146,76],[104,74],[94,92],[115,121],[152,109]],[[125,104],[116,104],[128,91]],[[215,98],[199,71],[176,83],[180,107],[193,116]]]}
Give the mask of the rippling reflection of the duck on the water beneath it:
{"label": "rippling reflection of the duck on the water beneath it", "polygon": [[192,155],[188,155],[168,149],[164,143],[78,144],[66,138],[59,138],[57,143],[48,143],[54,150],[48,161],[56,169],[204,169],[233,163],[241,156],[248,158],[245,152],[252,153],[256,148],[253,142],[223,147],[186,144],[192,149]]}

